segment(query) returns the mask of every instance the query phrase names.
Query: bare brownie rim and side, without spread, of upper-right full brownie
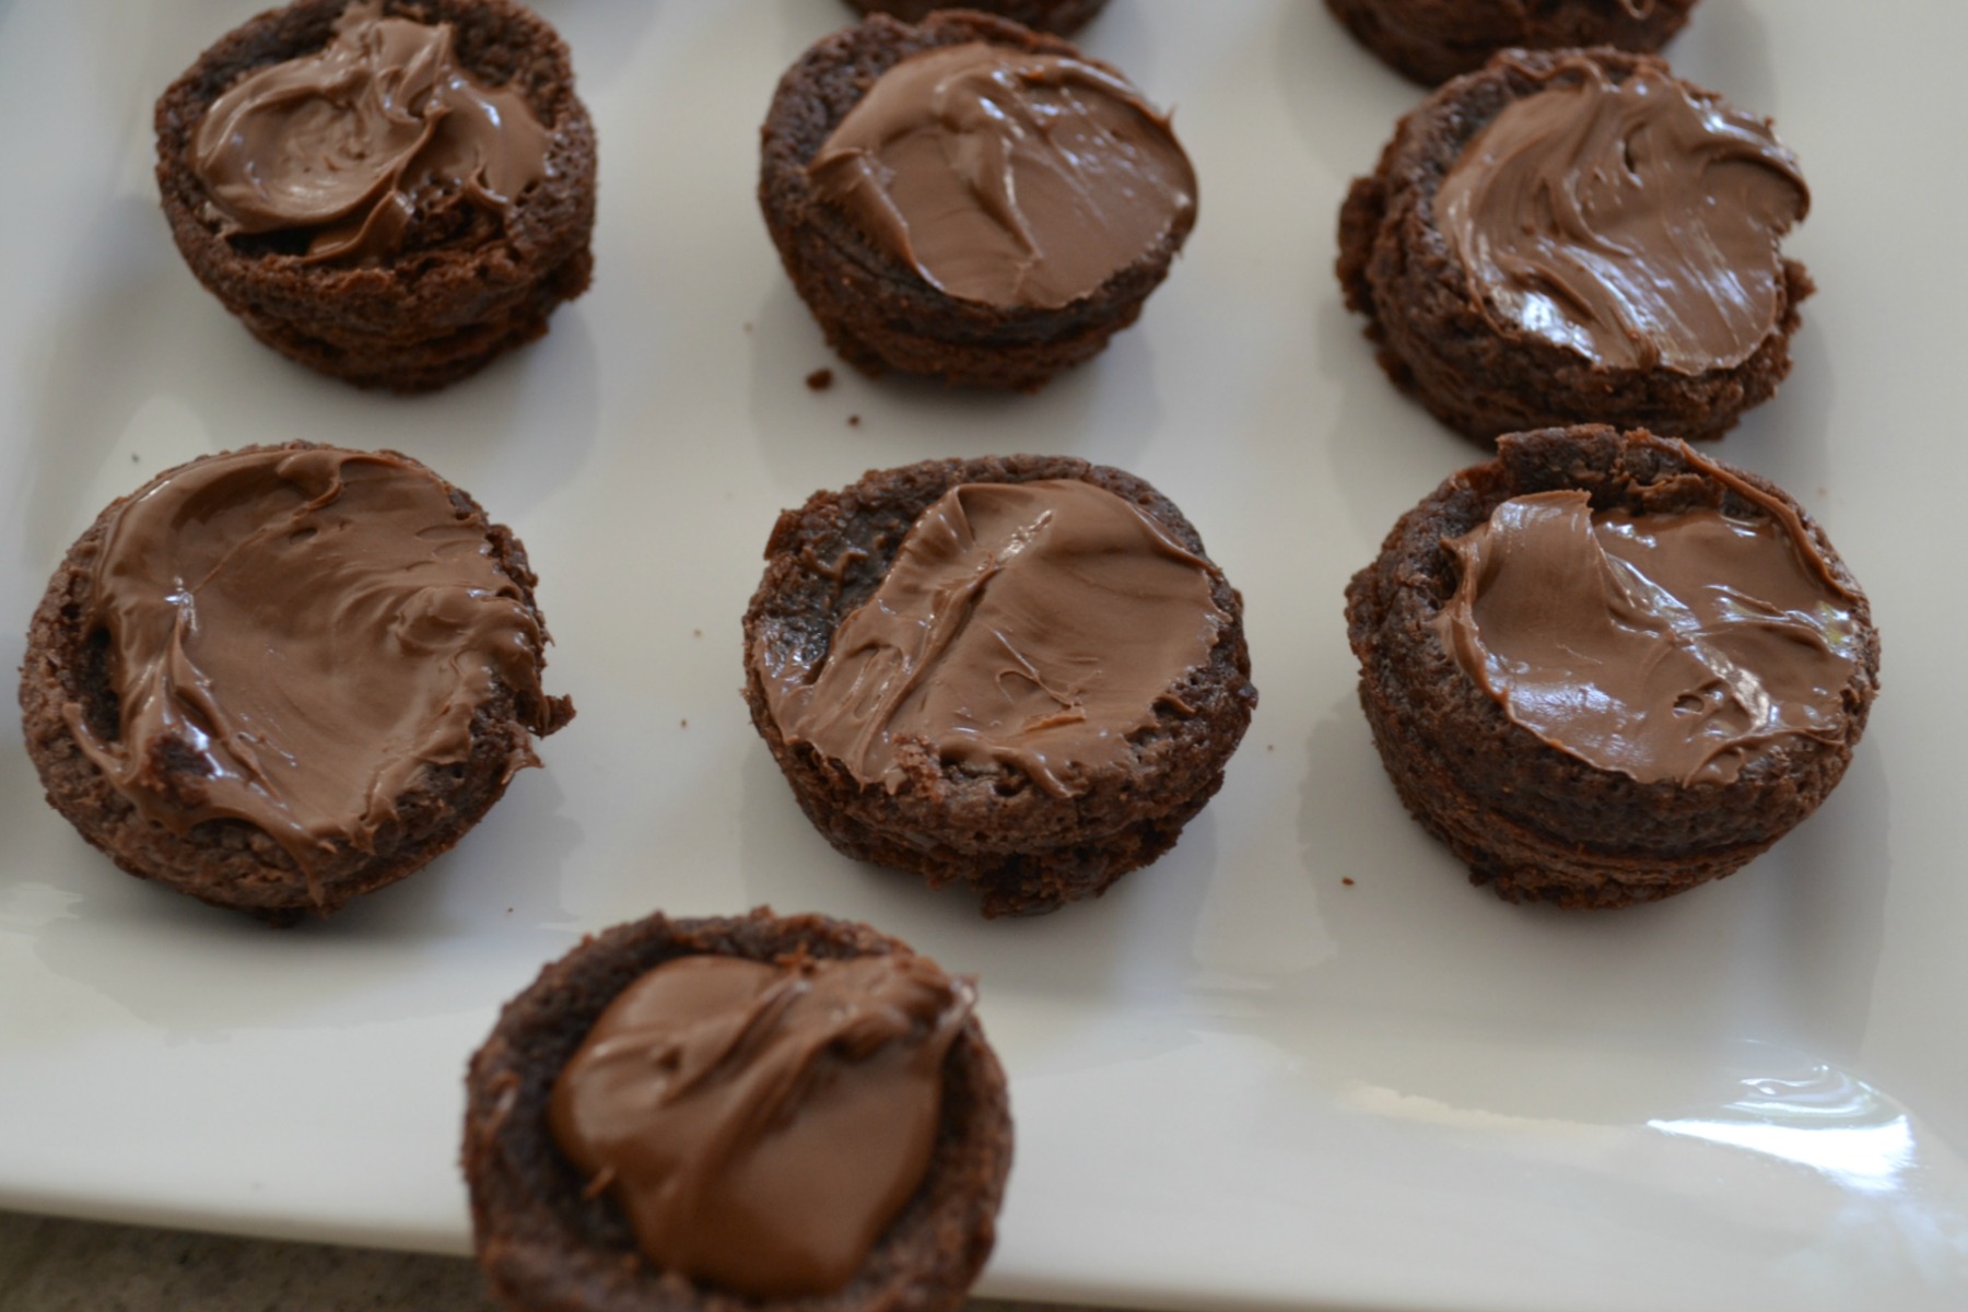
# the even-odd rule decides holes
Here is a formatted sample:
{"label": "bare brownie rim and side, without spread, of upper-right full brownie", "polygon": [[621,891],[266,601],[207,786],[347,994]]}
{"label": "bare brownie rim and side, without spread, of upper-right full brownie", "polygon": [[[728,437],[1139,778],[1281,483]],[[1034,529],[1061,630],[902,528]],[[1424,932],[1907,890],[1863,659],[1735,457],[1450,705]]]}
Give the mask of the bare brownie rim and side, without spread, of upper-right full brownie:
{"label": "bare brownie rim and side, without spread, of upper-right full brownie", "polygon": [[1476,443],[1582,421],[1689,441],[1720,437],[1791,372],[1791,334],[1803,323],[1797,305],[1814,291],[1801,264],[1783,262],[1777,325],[1742,364],[1702,374],[1606,368],[1486,319],[1435,226],[1437,191],[1462,148],[1511,100],[1565,85],[1568,75],[1545,83],[1537,73],[1580,53],[1614,83],[1641,69],[1669,77],[1659,59],[1614,49],[1513,51],[1437,90],[1401,120],[1380,165],[1354,179],[1340,209],[1336,273],[1346,307],[1366,315],[1387,378]]}

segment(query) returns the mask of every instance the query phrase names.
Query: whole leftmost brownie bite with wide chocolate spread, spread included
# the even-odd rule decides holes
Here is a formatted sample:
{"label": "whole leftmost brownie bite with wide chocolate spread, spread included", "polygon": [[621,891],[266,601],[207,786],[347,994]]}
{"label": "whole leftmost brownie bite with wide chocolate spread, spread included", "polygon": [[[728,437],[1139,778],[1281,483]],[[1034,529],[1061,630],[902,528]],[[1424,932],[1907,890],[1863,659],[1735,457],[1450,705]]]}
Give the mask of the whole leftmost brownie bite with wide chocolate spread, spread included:
{"label": "whole leftmost brownie bite with wide chocolate spread, spread included", "polygon": [[571,716],[525,549],[396,452],[250,447],[114,502],[28,633],[47,801],[140,879],[276,924],[423,867]]}

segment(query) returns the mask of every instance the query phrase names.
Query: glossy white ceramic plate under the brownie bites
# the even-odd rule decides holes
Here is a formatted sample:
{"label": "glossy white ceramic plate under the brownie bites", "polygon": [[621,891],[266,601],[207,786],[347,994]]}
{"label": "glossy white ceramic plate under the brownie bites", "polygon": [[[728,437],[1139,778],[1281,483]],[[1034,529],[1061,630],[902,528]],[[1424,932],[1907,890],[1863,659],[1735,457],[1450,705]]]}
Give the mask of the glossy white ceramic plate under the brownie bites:
{"label": "glossy white ceramic plate under the brownie bites", "polygon": [[[0,0],[0,663],[110,498],[321,439],[407,450],[523,535],[581,718],[455,854],[289,932],[116,873],[0,751],[0,1204],[462,1251],[459,1082],[498,1003],[583,932],[771,903],[982,976],[1017,1115],[992,1292],[1962,1304],[1968,6],[1706,0],[1673,49],[1773,114],[1816,191],[1795,378],[1718,452],[1828,525],[1885,694],[1775,852],[1608,915],[1468,887],[1354,704],[1340,588],[1476,452],[1340,309],[1344,183],[1417,92],[1321,4],[1120,0],[1084,33],[1177,106],[1202,218],[1143,323],[1039,397],[805,386],[834,362],[752,185],[832,0],[541,0],[600,126],[594,289],[435,397],[317,380],[193,283],[150,179],[157,90],[254,8]],[[738,616],[779,507],[1014,450],[1185,507],[1246,594],[1263,704],[1159,865],[982,923],[807,828],[736,692]]]}

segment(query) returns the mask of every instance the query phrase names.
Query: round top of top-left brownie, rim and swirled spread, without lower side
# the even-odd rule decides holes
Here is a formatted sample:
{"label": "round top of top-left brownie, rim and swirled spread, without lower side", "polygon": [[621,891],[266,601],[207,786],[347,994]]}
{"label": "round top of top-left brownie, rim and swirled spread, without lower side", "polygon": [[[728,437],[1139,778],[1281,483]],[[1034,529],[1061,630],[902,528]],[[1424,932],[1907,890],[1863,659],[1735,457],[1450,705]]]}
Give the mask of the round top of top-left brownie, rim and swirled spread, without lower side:
{"label": "round top of top-left brownie, rim and swirled spread, without lower side", "polygon": [[592,226],[573,61],[518,0],[293,0],[205,49],[155,124],[165,212],[209,283],[205,264],[266,262],[346,299],[398,264],[553,266]]}

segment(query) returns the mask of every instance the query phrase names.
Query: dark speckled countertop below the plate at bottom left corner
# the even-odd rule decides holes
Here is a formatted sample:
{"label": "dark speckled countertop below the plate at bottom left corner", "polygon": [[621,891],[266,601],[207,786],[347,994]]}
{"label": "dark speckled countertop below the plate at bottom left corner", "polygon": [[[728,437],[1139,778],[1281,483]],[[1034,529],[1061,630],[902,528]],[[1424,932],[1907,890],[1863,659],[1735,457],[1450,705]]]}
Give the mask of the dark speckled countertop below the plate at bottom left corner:
{"label": "dark speckled countertop below the plate at bottom left corner", "polygon": [[[461,1257],[0,1212],[0,1312],[502,1312]],[[968,1312],[1041,1312],[974,1300]],[[1051,1310],[1067,1312],[1067,1310]]]}

